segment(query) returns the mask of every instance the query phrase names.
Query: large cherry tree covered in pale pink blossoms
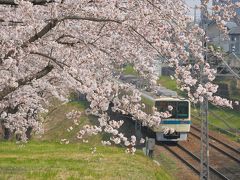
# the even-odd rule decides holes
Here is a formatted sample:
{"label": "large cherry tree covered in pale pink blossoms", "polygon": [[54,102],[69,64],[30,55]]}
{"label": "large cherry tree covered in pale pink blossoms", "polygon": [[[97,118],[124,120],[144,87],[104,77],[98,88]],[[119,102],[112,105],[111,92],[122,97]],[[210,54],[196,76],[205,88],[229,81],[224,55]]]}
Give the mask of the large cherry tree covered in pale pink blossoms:
{"label": "large cherry tree covered in pale pink blossoms", "polygon": [[[223,17],[209,18],[224,30],[233,7],[229,4]],[[111,142],[134,146],[136,138],[128,140],[117,130],[123,121],[110,120],[106,111],[112,102],[113,111],[130,113],[147,126],[169,115],[144,113],[136,87],[116,81],[129,63],[154,89],[159,57],[176,69],[175,78],[191,101],[201,102],[207,95],[212,103],[231,107],[214,96],[215,70],[204,61],[204,31],[192,25],[187,13],[182,0],[0,0],[1,125],[26,141],[32,132],[42,131],[37,115],[47,109],[50,97],[67,102],[69,92],[76,90],[90,102],[87,112],[99,117],[99,126],[84,126],[79,138],[105,131],[112,134]],[[204,85],[200,66],[207,77]]]}

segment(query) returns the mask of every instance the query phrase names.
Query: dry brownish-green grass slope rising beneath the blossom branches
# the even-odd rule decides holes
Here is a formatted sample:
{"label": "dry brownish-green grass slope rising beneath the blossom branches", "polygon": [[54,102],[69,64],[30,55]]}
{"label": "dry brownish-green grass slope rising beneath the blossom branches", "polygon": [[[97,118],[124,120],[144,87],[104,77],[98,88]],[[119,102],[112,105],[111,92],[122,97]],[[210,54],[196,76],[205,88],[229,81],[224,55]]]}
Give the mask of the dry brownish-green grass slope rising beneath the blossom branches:
{"label": "dry brownish-green grass slope rising beneath the blossom branches", "polygon": [[[44,117],[44,135],[39,140],[50,140],[59,142],[61,139],[68,139],[70,142],[79,142],[76,138],[77,132],[81,130],[83,125],[95,124],[96,117],[87,116],[84,110],[88,107],[86,101],[73,101],[64,105],[57,106],[49,113],[42,115]],[[73,120],[66,118],[66,113],[72,110],[81,111],[81,117],[79,118],[79,125],[75,125]],[[72,126],[73,130],[68,132],[67,129]],[[101,142],[101,136],[88,137],[88,140],[94,145]]]}

